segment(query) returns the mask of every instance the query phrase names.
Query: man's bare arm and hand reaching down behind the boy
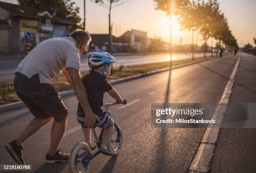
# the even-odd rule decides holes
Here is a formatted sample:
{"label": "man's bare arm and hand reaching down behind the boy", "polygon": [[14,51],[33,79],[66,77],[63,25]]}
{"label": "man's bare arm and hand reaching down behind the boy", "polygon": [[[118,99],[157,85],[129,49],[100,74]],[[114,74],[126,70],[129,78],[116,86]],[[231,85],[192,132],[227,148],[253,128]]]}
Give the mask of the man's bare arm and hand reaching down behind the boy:
{"label": "man's bare arm and hand reaching down behind the boy", "polygon": [[76,94],[77,100],[83,108],[86,116],[86,123],[84,123],[84,126],[87,128],[93,128],[95,121],[98,120],[100,122],[100,118],[92,112],[92,109],[87,99],[87,93],[84,88],[84,84],[82,83],[82,80],[80,78],[79,70],[75,68],[67,68],[67,70],[73,83],[74,93]]}

